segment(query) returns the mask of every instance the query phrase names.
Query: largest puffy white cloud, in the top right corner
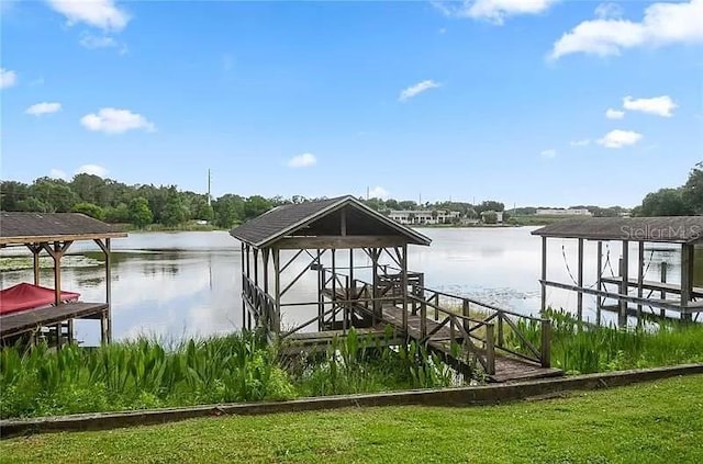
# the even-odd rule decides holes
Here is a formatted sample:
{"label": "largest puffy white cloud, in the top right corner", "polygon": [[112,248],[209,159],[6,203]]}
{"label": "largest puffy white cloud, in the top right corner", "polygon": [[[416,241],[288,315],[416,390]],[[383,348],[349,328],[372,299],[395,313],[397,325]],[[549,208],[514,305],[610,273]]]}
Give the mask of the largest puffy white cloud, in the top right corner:
{"label": "largest puffy white cloud, in the top right corner", "polygon": [[687,3],[654,3],[641,22],[601,18],[584,21],[554,44],[549,57],[585,53],[620,55],[623,49],[674,43],[703,43],[703,0]]}

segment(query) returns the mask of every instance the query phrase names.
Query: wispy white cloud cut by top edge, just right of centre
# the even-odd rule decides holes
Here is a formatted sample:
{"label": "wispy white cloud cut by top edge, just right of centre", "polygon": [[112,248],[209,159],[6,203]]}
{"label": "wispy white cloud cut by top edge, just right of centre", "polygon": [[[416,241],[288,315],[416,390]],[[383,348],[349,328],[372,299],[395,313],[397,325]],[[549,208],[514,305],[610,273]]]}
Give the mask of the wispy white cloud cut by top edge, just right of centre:
{"label": "wispy white cloud cut by top edge, just right of centre", "polygon": [[447,16],[487,20],[503,24],[505,18],[538,14],[559,0],[465,0],[462,2],[433,1],[432,4]]}

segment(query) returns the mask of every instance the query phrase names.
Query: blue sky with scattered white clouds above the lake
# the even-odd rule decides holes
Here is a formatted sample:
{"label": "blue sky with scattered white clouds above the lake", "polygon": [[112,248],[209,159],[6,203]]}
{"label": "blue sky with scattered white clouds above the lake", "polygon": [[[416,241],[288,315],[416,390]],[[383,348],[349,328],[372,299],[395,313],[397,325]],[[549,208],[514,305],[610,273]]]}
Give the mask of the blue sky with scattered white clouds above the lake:
{"label": "blue sky with scattered white clouds above the lake", "polygon": [[633,206],[703,159],[703,0],[0,1],[3,179]]}

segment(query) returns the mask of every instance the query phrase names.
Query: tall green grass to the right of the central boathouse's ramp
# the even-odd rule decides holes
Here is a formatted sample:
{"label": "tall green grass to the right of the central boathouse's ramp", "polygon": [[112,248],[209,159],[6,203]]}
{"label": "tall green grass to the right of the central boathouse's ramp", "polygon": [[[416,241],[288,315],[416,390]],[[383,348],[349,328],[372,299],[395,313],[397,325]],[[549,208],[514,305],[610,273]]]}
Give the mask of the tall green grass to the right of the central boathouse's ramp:
{"label": "tall green grass to the right of the central boathouse's ramp", "polygon": [[[656,326],[617,328],[581,325],[563,310],[547,309],[551,319],[551,362],[567,373],[594,373],[703,362],[703,325],[660,322]],[[520,320],[521,331],[538,343],[537,322]],[[513,349],[525,351],[514,335],[506,337]],[[539,344],[537,344],[539,346]]]}

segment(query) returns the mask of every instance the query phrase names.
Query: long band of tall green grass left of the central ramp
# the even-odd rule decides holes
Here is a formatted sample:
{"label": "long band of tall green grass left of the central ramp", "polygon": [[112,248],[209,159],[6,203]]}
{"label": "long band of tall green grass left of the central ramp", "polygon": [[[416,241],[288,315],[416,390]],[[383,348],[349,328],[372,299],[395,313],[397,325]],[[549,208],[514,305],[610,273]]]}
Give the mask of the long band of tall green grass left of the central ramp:
{"label": "long band of tall green grass left of the central ramp", "polygon": [[167,347],[146,338],[94,349],[40,344],[0,351],[0,418],[289,399],[449,385],[424,348],[335,339],[325,353],[282,362],[254,332]]}

